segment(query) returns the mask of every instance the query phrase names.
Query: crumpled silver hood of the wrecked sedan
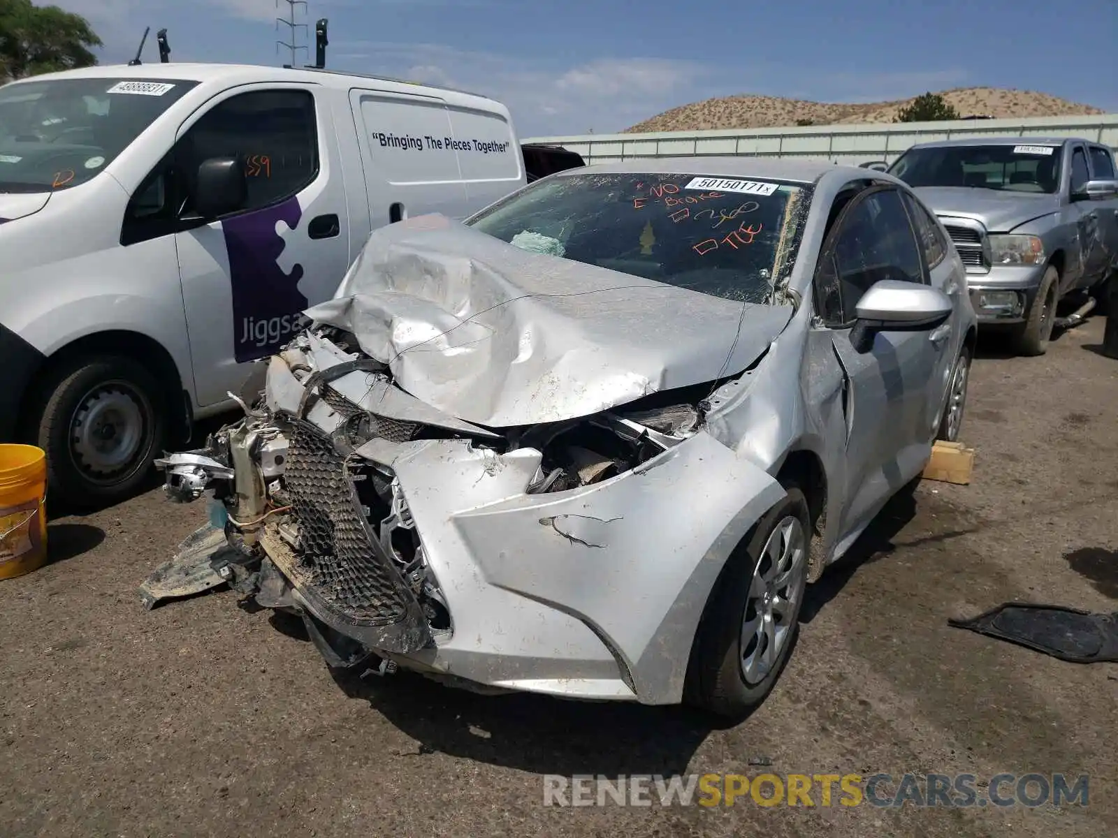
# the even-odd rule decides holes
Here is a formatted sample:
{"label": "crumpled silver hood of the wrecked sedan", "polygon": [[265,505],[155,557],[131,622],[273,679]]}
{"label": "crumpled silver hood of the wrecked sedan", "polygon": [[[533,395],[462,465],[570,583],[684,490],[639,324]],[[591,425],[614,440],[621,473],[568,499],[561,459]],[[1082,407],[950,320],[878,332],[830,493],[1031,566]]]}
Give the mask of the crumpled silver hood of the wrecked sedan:
{"label": "crumpled silver hood of the wrecked sedan", "polygon": [[500,428],[742,372],[793,313],[742,306],[423,216],[375,231],[306,316],[352,332],[416,398]]}

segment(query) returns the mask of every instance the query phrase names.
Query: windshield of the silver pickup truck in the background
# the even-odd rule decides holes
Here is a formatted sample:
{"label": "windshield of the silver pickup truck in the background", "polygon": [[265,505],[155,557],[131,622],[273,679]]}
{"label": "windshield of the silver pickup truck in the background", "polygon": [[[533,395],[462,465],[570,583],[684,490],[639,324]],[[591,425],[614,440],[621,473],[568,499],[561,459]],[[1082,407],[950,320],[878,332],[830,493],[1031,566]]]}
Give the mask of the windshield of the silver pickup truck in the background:
{"label": "windshield of the silver pickup truck in the background", "polygon": [[1061,147],[1051,144],[944,145],[910,149],[890,168],[910,187],[972,187],[1054,193]]}

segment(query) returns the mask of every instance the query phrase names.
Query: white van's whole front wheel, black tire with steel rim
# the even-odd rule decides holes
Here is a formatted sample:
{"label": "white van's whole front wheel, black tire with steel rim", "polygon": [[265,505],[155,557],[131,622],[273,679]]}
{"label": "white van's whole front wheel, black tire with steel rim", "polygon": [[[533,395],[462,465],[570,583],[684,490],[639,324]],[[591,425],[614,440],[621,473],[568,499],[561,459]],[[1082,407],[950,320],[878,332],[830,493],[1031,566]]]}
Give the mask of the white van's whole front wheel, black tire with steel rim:
{"label": "white van's whole front wheel, black tire with steel rim", "polygon": [[129,358],[73,359],[44,377],[25,422],[25,436],[47,453],[49,496],[107,506],[131,497],[162,451],[165,390]]}

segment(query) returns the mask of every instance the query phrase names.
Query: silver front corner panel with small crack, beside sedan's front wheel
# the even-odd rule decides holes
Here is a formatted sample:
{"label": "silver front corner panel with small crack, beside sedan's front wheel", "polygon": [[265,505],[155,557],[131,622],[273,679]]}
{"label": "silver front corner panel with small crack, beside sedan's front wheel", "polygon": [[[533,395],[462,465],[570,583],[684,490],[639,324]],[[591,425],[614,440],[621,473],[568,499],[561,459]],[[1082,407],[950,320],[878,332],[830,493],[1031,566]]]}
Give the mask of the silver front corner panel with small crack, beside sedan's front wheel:
{"label": "silver front corner panel with small crack, beside sedan's front wheel", "polygon": [[667,704],[682,698],[699,619],[727,558],[784,494],[700,432],[603,483],[518,495],[452,521],[490,584],[577,617],[642,703]]}

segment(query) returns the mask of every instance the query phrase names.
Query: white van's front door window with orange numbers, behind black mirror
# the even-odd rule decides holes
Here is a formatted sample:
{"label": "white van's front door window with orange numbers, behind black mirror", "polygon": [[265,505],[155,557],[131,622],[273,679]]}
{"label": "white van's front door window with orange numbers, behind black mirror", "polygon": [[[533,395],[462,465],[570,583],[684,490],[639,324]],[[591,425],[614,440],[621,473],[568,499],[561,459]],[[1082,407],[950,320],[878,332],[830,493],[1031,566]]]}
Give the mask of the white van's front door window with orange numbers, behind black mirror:
{"label": "white van's front door window with orange numbers, behind black mirror", "polygon": [[224,156],[245,161],[246,210],[302,191],[319,173],[314,96],[307,91],[254,91],[214,106],[176,146],[188,194],[198,166]]}

